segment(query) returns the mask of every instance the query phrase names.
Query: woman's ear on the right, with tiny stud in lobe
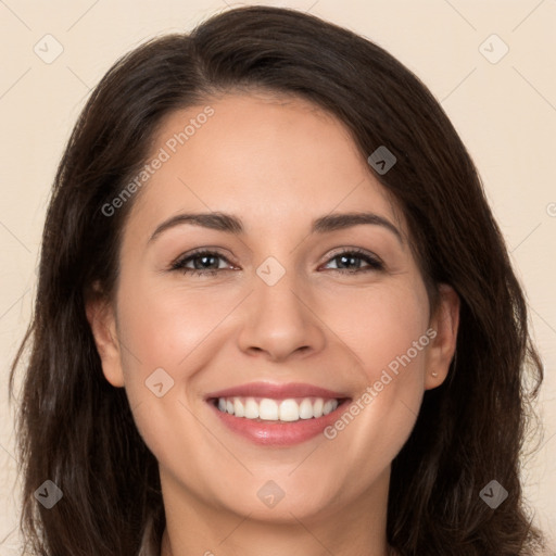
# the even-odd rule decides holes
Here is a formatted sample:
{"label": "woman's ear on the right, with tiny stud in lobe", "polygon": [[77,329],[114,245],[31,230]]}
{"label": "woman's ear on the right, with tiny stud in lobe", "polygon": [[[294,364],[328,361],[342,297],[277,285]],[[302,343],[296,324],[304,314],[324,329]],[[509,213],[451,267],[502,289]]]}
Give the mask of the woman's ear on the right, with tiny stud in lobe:
{"label": "woman's ear on the right, with tiny stud in lobe", "polygon": [[425,390],[437,388],[447,377],[450,364],[456,351],[459,327],[459,296],[446,283],[439,287],[440,303],[430,319],[430,329],[435,331],[427,351]]}

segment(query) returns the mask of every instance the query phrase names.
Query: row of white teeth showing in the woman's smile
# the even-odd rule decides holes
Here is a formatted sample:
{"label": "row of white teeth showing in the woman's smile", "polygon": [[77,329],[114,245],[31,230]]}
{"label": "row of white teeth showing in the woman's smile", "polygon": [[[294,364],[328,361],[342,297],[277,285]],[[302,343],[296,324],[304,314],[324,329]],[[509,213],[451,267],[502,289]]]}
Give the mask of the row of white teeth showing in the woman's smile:
{"label": "row of white teeth showing in the woman's smile", "polygon": [[323,397],[281,401],[263,397],[258,402],[254,397],[219,397],[218,409],[247,419],[292,422],[328,415],[338,407],[338,400]]}

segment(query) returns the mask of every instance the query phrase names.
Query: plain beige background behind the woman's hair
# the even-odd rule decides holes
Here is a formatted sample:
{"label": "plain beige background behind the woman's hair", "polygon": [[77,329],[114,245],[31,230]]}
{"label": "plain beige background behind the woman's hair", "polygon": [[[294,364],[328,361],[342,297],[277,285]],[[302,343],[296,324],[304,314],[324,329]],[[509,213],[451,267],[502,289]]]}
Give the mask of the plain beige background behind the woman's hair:
{"label": "plain beige background behind the woman's hair", "polygon": [[[226,3],[0,0],[1,556],[17,554],[20,505],[4,386],[30,316],[49,187],[64,143],[88,92],[119,55],[161,33],[189,29]],[[544,438],[523,479],[535,519],[556,531],[556,0],[267,3],[309,10],[384,47],[441,101],[473,156],[545,363]],[[42,56],[55,53],[55,41],[63,52],[53,62],[35,53],[36,45]],[[497,60],[504,43],[509,50]]]}

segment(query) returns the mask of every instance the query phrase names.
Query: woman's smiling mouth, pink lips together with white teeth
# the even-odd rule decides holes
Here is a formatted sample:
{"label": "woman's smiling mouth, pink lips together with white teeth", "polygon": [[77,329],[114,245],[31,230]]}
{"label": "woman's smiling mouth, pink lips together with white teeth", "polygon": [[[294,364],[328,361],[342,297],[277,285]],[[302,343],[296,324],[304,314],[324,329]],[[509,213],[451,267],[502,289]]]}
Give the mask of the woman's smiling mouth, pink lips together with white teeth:
{"label": "woman's smiling mouth, pink lips together with white teeth", "polygon": [[256,444],[289,446],[331,425],[351,397],[311,384],[251,383],[210,394],[220,424]]}

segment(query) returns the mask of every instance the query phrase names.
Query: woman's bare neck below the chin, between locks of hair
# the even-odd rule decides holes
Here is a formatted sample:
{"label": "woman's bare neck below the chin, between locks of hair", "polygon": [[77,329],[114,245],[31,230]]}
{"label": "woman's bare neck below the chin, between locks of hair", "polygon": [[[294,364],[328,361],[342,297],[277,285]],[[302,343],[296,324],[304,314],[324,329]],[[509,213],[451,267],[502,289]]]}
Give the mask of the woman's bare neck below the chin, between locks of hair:
{"label": "woman's bare neck below the chin, between locks of hair", "polygon": [[270,521],[206,504],[161,470],[166,514],[161,556],[395,556],[386,538],[389,479],[390,468],[359,500],[312,516],[281,508]]}

